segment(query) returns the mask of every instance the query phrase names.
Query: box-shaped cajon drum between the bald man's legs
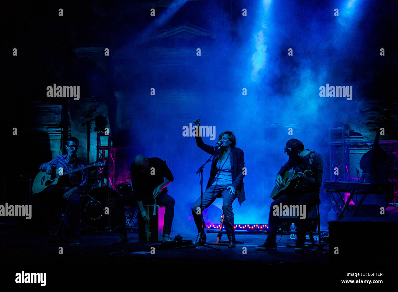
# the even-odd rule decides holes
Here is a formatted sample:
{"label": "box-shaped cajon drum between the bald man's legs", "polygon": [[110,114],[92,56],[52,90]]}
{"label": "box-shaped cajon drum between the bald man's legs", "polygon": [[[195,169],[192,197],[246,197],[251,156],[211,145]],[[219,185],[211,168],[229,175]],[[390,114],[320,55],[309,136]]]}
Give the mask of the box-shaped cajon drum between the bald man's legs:
{"label": "box-shaped cajon drum between the bald man's legs", "polygon": [[160,227],[163,228],[163,226],[160,226],[163,224],[159,224],[159,221],[163,223],[164,212],[159,217],[160,206],[156,205],[156,215],[153,215],[153,207],[154,207],[153,205],[144,205],[146,213],[148,214],[149,217],[149,223],[147,223],[145,219],[142,218],[141,215],[139,215],[138,219],[139,242],[158,242],[159,240],[162,240],[162,238],[160,238],[160,234],[162,231],[159,229]]}

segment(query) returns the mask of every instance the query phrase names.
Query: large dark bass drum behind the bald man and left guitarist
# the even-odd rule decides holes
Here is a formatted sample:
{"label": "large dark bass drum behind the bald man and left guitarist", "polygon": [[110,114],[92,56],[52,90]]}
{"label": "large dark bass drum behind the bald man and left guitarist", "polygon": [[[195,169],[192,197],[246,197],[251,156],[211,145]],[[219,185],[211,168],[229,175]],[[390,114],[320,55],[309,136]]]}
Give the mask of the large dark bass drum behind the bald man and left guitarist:
{"label": "large dark bass drum behind the bald man and left guitarist", "polygon": [[[115,198],[119,195],[117,191],[105,187],[89,191],[81,203],[82,220],[103,232],[116,228]],[[109,208],[109,214],[105,214],[106,207]]]}

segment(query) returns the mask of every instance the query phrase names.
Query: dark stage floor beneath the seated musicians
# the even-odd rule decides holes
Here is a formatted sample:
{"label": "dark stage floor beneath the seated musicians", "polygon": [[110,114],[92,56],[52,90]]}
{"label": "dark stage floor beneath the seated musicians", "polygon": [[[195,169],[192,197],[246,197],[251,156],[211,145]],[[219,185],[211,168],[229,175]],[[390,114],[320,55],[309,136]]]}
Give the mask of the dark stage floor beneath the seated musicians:
{"label": "dark stage floor beneath the seated musicians", "polygon": [[[195,240],[196,234],[179,232],[183,240]],[[258,251],[256,246],[263,244],[266,236],[261,234],[236,234],[236,248],[215,246],[220,251],[205,248],[161,249],[156,243],[142,243],[138,241],[137,233],[129,233],[130,241],[125,244],[111,245],[117,239],[116,233],[86,233],[80,236],[80,244],[69,245],[60,242],[58,238],[46,234],[35,234],[29,230],[21,230],[18,225],[0,224],[0,259],[3,263],[23,265],[92,265],[96,263],[132,263],[132,264],[328,264],[328,246],[323,252],[295,253],[294,247],[287,248],[287,244],[295,244],[289,235],[277,236],[277,250]],[[170,234],[174,239],[177,234]],[[207,233],[207,242],[215,242],[217,234]],[[227,240],[226,235],[222,240]],[[279,241],[279,242],[278,242]],[[154,254],[151,247],[154,246]],[[63,248],[63,256],[59,248]],[[246,252],[245,249],[246,248]]]}

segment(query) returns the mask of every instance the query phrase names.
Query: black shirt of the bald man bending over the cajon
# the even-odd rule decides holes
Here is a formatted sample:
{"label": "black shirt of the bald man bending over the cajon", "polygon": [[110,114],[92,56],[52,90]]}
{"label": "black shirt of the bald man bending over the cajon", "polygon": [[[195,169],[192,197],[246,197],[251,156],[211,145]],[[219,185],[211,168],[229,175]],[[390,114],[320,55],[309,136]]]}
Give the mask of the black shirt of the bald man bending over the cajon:
{"label": "black shirt of the bald man bending over the cajon", "polygon": [[[170,182],[174,180],[166,161],[157,157],[150,157],[148,161],[149,167],[145,172],[137,169],[134,162],[130,165],[131,185],[137,201],[142,201],[144,196],[152,196],[154,189],[164,182],[163,178],[170,180]],[[166,192],[167,188],[163,188],[162,193]]]}

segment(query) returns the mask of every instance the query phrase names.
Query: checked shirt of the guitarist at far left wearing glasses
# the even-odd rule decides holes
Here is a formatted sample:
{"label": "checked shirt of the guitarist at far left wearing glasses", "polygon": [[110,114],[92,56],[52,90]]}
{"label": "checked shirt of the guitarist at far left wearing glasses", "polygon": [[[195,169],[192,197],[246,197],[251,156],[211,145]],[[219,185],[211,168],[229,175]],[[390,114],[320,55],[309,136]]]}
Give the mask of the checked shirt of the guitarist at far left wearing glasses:
{"label": "checked shirt of the guitarist at far left wearing glasses", "polygon": [[[86,161],[80,158],[73,158],[68,160],[67,154],[60,154],[55,157],[52,161],[46,162],[40,165],[40,171],[46,171],[47,165],[51,165],[55,168],[55,172],[59,172],[59,168],[62,167],[63,171],[69,171],[74,168],[80,168],[87,165]],[[65,184],[65,191],[70,189],[76,191],[85,191],[87,186],[87,169],[80,170],[69,174],[69,181]]]}

